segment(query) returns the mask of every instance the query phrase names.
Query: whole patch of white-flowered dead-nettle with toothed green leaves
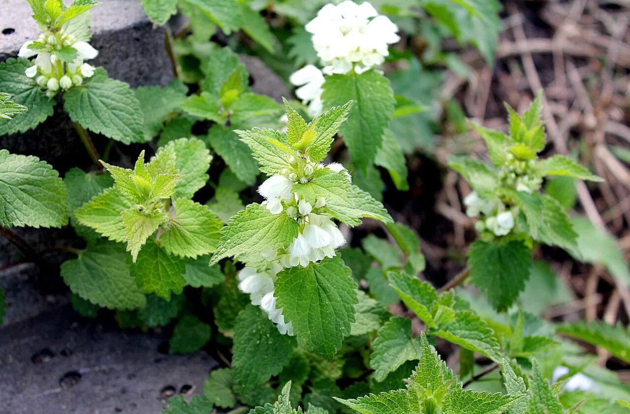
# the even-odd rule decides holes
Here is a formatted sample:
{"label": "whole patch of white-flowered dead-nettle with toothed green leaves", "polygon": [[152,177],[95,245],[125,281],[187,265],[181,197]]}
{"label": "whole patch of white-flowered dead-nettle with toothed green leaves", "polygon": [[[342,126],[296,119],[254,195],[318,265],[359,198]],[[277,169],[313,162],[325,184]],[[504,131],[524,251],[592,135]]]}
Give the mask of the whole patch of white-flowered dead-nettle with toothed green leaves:
{"label": "whole patch of white-flowered dead-nettle with toothed green leaves", "polygon": [[[408,189],[404,153],[415,146],[405,136],[426,126],[415,118],[423,103],[402,92],[415,90],[416,72],[439,80],[410,57],[410,70],[382,72],[404,54],[389,46],[425,36],[424,63],[457,70],[438,45],[450,33],[491,61],[496,2],[383,2],[380,13],[351,1],[268,5],[292,34],[266,25],[256,13],[262,3],[143,1],[155,23],[178,9],[190,16],[193,33],[169,38],[178,79],[132,90],[85,62],[97,53],[86,13],[95,2],[31,0],[43,34],[0,63],[8,92],[0,94],[0,133],[35,128],[61,98],[97,168],[72,168],[62,179],[34,156],[0,150],[1,234],[44,266],[9,227],[69,222],[84,245],[57,251],[72,254],[61,276],[77,312],[96,317],[107,308],[101,316],[113,313],[121,327],[167,327],[169,352],[206,346],[225,362],[202,395],[176,396],[164,413],[627,412],[627,386],[556,334],[630,362],[627,329],[554,325],[526,306],[540,296],[532,286],[556,286],[551,268],[532,261],[540,244],[599,260],[585,248],[588,226],[542,191],[552,175],[599,178],[563,156],[538,158],[546,144],[540,98],[522,115],[508,108],[507,134],[474,126],[491,163],[450,159],[473,189],[464,204],[478,239],[447,285],[423,280],[419,237],[378,200],[376,167]],[[217,26],[226,35],[243,28],[265,53],[290,46],[294,62],[283,72],[301,102],[254,93],[233,44],[208,41]],[[135,163],[110,160],[86,129],[157,145],[134,151]],[[351,228],[365,221],[378,229],[360,238]],[[609,236],[596,236],[616,251]],[[607,257],[627,273],[622,258]],[[458,287],[468,278],[482,295]],[[436,347],[455,351],[457,374]]]}

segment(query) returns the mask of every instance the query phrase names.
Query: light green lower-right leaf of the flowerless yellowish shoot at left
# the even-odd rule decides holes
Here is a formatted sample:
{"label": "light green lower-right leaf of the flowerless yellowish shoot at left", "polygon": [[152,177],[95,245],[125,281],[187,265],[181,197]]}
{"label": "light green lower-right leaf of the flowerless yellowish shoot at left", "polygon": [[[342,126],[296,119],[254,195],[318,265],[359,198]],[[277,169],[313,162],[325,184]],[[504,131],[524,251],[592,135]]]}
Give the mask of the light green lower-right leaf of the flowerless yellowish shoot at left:
{"label": "light green lower-right leaf of the flowerless yellowish shoot at left", "polygon": [[175,215],[168,219],[160,236],[164,251],[186,258],[213,253],[223,227],[219,218],[207,206],[192,200],[175,200],[173,207]]}

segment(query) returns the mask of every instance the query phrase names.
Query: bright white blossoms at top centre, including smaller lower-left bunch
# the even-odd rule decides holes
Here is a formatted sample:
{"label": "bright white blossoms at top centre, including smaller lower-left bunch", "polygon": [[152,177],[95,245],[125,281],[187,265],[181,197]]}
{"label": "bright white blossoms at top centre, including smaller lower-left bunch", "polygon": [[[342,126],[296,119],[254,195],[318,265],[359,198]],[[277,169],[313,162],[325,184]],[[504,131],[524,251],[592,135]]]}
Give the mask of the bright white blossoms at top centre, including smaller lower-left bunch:
{"label": "bright white blossoms at top centre, including smaller lower-left bunch", "polygon": [[326,4],[317,17],[306,25],[312,33],[313,46],[324,65],[320,70],[307,65],[292,74],[291,84],[299,86],[295,95],[308,106],[311,117],[322,110],[324,75],[365,72],[381,65],[389,55],[388,47],[400,40],[398,26],[386,16],[379,16],[370,3],[350,0],[335,6]]}

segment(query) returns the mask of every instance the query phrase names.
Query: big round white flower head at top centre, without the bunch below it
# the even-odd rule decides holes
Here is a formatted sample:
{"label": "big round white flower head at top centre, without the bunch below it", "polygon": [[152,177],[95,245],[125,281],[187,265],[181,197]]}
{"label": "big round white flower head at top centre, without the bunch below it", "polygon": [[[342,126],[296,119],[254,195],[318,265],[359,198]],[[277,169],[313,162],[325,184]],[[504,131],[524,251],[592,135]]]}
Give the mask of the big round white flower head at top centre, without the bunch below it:
{"label": "big round white flower head at top centre, without the bunch below it", "polygon": [[381,65],[389,45],[400,40],[398,26],[389,18],[379,16],[369,3],[350,0],[326,4],[305,28],[313,35],[325,74],[346,74],[353,67],[360,73]]}

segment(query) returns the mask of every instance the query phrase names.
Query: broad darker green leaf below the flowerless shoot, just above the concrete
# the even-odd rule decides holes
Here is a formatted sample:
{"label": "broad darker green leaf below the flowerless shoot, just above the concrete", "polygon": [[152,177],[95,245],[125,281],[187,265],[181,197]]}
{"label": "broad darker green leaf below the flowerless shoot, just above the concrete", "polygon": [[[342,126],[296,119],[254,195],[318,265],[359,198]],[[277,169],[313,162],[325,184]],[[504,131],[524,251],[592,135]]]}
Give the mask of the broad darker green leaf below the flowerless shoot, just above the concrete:
{"label": "broad darker green leaf below the flowerless shoot, just above the concrete", "polygon": [[122,244],[105,241],[88,244],[78,258],[61,265],[61,276],[72,292],[96,305],[134,309],[146,303],[129,273]]}

